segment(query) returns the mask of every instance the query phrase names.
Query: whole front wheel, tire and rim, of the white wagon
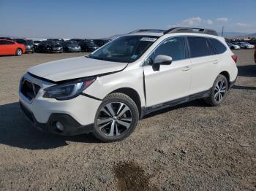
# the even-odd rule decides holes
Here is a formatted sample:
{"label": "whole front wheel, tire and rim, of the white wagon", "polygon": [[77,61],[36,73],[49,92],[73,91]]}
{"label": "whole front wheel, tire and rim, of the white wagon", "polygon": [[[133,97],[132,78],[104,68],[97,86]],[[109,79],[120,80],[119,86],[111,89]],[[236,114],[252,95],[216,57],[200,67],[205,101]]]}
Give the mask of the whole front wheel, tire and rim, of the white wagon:
{"label": "whole front wheel, tire and rim, of the white wagon", "polygon": [[94,120],[94,136],[103,142],[120,141],[135,130],[138,107],[124,93],[111,93],[102,101]]}

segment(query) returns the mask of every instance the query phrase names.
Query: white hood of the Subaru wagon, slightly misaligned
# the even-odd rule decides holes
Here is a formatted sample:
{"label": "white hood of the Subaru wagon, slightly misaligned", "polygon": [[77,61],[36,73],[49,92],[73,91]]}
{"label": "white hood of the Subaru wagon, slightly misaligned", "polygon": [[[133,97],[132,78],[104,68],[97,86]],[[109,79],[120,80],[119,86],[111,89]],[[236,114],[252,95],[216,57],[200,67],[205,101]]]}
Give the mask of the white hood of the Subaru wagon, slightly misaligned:
{"label": "white hood of the Subaru wagon, slightly misaligned", "polygon": [[59,82],[67,79],[91,77],[121,71],[128,63],[101,61],[85,56],[42,63],[28,70],[37,77]]}

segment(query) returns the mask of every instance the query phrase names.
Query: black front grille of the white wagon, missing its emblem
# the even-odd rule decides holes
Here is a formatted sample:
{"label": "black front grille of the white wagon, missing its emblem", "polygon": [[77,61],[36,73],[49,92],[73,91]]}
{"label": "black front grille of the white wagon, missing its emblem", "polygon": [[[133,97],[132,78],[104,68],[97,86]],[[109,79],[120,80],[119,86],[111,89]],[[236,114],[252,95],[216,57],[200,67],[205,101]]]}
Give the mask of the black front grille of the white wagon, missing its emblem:
{"label": "black front grille of the white wagon, missing its emblem", "polygon": [[29,99],[29,101],[33,100],[36,96],[38,91],[40,90],[40,86],[36,85],[32,82],[29,82],[26,79],[21,80],[20,84],[20,92]]}

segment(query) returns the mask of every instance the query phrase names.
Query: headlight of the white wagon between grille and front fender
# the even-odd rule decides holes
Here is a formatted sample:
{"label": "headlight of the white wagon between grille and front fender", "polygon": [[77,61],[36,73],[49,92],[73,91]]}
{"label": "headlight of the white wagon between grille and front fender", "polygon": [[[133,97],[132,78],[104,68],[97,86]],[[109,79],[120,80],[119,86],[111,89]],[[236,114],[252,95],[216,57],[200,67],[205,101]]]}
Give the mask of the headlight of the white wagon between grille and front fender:
{"label": "headlight of the white wagon between grille and front fender", "polygon": [[75,82],[64,83],[62,85],[54,85],[45,88],[44,98],[56,98],[57,100],[67,100],[75,98],[80,95],[83,90],[86,90],[93,82],[95,78],[80,79]]}

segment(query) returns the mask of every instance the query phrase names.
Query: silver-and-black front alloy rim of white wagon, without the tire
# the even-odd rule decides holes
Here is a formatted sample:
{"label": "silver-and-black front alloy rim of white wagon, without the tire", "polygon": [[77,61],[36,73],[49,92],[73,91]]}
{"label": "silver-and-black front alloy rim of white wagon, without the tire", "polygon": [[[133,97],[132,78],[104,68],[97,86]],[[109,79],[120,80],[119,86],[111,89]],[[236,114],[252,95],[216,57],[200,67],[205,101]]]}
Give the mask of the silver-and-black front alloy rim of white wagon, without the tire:
{"label": "silver-and-black front alloy rim of white wagon, without the tire", "polygon": [[132,124],[132,112],[124,103],[111,102],[102,106],[97,126],[106,136],[120,136]]}

